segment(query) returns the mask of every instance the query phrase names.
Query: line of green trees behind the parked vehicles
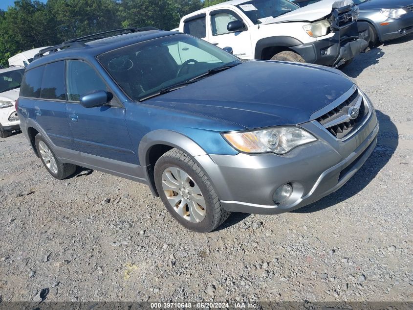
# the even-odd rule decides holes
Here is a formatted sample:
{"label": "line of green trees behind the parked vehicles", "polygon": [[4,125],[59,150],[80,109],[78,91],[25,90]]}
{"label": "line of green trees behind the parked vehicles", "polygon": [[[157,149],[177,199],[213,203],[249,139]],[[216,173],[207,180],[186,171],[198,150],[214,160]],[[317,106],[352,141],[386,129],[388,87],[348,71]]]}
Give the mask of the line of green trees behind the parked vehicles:
{"label": "line of green trees behind the parked vehicles", "polygon": [[225,0],[16,0],[0,10],[0,65],[32,48],[117,28],[170,30],[186,14]]}

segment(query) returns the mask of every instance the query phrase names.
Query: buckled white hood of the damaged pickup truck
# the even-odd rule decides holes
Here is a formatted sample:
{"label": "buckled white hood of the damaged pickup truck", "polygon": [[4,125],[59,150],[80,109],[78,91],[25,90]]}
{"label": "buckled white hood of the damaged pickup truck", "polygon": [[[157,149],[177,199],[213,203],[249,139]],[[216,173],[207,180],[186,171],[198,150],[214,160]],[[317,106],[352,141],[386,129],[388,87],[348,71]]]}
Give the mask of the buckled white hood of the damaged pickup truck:
{"label": "buckled white hood of the damaged pickup truck", "polygon": [[320,20],[331,14],[333,8],[339,8],[346,5],[353,5],[352,0],[321,0],[316,3],[309,4],[297,10],[283,14],[279,17],[271,18],[263,24],[274,24],[291,21],[306,21],[313,22]]}

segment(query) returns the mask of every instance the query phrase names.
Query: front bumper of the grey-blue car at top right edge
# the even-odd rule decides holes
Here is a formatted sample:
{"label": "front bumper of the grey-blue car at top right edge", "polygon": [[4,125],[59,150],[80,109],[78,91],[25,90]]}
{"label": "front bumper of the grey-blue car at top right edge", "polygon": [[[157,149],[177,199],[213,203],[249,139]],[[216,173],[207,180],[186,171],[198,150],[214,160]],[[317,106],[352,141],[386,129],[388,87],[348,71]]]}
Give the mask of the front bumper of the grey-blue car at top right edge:
{"label": "front bumper of the grey-blue car at top right edge", "polygon": [[400,18],[389,18],[376,23],[377,35],[380,41],[388,41],[403,37],[413,32],[413,12],[408,12]]}

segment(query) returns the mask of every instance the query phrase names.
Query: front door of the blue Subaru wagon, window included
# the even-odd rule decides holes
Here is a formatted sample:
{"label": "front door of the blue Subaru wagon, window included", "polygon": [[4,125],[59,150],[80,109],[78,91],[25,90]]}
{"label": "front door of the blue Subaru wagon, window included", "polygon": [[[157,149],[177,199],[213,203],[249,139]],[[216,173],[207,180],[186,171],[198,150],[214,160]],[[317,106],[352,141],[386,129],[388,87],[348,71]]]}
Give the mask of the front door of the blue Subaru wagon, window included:
{"label": "front door of the blue Subaru wagon, window included", "polygon": [[[79,102],[81,95],[92,91],[110,91],[100,74],[85,61],[67,60],[66,88],[67,120],[75,149],[110,160],[137,164],[126,127],[125,109],[116,102],[117,99],[113,98],[111,104],[95,108],[85,108]],[[93,165],[90,163],[93,158],[86,160]],[[99,166],[99,162],[94,165]]]}

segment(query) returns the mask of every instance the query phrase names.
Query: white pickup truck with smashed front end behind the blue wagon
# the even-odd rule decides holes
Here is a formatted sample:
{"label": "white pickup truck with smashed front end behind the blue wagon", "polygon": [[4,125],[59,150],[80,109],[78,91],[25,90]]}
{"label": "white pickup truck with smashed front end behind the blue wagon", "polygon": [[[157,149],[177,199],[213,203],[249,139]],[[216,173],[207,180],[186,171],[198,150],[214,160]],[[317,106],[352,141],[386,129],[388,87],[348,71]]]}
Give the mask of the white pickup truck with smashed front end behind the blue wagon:
{"label": "white pickup truck with smashed front end behind the blue wagon", "polygon": [[339,67],[368,48],[367,26],[358,24],[357,16],[351,0],[303,8],[288,0],[232,0],[184,16],[179,31],[243,59]]}

